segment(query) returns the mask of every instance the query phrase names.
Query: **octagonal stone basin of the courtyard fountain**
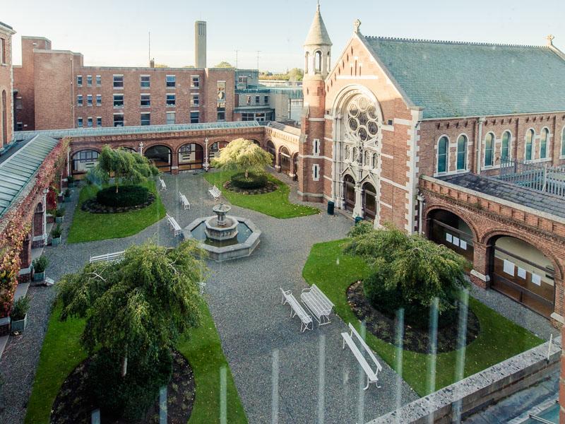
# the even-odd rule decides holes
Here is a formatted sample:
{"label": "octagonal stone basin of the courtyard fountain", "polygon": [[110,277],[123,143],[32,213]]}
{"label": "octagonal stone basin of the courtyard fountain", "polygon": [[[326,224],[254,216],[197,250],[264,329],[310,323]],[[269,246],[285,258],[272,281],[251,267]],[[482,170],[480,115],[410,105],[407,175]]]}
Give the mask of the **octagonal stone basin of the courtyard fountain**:
{"label": "octagonal stone basin of the courtyard fountain", "polygon": [[260,242],[261,230],[249,219],[238,216],[226,216],[226,218],[232,220],[235,225],[233,228],[235,235],[232,238],[218,240],[209,237],[210,223],[216,220],[215,216],[192,221],[182,231],[184,238],[198,240],[200,246],[208,252],[208,257],[214,261],[248,257]]}

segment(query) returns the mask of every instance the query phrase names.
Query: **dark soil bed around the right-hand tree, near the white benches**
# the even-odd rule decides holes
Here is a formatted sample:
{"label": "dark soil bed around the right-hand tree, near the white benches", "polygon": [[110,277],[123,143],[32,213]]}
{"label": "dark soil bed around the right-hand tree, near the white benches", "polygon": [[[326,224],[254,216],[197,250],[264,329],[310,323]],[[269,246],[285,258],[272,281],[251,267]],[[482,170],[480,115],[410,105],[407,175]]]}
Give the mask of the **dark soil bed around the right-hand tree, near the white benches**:
{"label": "dark soil bed around the right-hand tree, near the white benches", "polygon": [[[364,321],[367,331],[387,343],[396,345],[397,322],[394,317],[389,317],[377,310],[367,298],[363,291],[362,281],[357,281],[347,288],[347,302],[355,316]],[[455,314],[458,316],[458,313]],[[429,317],[422,317],[429,319]],[[480,323],[477,316],[468,310],[466,344],[471,343],[480,333]],[[437,353],[455,351],[458,346],[459,321],[440,326],[437,330]],[[403,349],[417,353],[429,353],[429,330],[416,328],[405,323]]]}

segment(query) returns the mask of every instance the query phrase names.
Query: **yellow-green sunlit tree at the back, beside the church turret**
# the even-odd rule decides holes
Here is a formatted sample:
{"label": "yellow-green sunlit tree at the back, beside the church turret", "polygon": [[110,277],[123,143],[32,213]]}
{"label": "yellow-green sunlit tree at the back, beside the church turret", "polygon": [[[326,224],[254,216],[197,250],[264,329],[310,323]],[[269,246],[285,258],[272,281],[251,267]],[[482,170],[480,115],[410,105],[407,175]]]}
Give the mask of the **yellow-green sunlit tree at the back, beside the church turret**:
{"label": "yellow-green sunlit tree at the back, beside the church turret", "polygon": [[270,165],[273,155],[264,151],[253,141],[237,139],[220,150],[220,155],[212,161],[213,167],[225,170],[244,170],[245,177],[249,177],[249,171],[264,172],[265,167]]}

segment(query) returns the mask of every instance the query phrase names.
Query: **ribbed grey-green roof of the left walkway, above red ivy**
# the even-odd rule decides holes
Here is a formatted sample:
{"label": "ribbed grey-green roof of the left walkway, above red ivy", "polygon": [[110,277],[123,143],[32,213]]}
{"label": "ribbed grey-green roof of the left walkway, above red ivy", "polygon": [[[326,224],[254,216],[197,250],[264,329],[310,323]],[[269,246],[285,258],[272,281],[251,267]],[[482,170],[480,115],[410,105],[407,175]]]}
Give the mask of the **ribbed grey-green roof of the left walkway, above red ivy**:
{"label": "ribbed grey-green roof of the left walkway, above red ivy", "polygon": [[0,216],[18,199],[41,164],[59,143],[47,136],[35,136],[0,163]]}

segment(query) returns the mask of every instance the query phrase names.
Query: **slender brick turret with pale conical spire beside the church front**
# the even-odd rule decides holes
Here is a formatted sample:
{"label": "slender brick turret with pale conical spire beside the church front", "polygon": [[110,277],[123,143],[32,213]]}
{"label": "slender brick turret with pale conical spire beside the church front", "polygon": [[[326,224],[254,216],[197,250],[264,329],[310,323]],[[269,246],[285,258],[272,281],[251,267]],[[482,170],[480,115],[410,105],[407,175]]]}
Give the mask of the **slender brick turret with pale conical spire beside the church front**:
{"label": "slender brick turret with pale conical spire beside the church front", "polygon": [[[314,21],[304,42],[304,110],[302,112],[302,137],[299,145],[298,194],[303,201],[323,201],[326,77],[331,65],[331,40],[320,13],[316,8]],[[331,172],[331,166],[328,165]],[[330,188],[331,192],[331,188]]]}

